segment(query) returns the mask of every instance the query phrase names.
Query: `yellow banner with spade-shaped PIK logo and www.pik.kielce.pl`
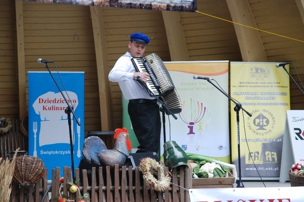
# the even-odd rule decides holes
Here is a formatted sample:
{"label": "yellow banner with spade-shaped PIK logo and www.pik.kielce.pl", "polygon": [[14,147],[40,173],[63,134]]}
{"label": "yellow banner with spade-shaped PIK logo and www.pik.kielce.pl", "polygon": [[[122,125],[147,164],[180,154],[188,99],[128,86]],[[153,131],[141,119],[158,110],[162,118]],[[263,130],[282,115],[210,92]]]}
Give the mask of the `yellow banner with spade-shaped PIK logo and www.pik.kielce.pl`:
{"label": "yellow banner with spade-shaped PIK logo and www.pik.kielce.pl", "polygon": [[[275,63],[231,62],[230,88],[231,96],[252,115],[239,111],[242,176],[255,177],[259,173],[262,177],[278,177],[285,116],[290,109],[288,74]],[[238,165],[235,106],[231,102],[232,162]]]}

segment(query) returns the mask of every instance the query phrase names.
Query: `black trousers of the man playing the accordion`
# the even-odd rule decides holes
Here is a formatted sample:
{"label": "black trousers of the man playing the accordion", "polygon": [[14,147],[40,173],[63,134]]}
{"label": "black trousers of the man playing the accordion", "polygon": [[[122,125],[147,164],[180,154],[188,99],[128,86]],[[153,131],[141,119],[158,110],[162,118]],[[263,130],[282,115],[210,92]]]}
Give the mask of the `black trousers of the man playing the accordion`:
{"label": "black trousers of the man playing the accordion", "polygon": [[161,117],[156,100],[131,99],[128,113],[139,142],[136,153],[158,153],[161,138]]}

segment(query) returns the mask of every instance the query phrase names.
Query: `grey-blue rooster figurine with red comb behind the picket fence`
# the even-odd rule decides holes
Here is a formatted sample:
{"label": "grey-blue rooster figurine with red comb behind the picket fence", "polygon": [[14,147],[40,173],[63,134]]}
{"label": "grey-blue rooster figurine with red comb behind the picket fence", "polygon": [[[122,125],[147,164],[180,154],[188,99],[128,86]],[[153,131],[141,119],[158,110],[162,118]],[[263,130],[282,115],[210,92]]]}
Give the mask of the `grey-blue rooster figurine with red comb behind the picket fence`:
{"label": "grey-blue rooster figurine with red comb behind the picket fence", "polygon": [[87,137],[83,146],[83,161],[92,166],[110,166],[116,164],[125,165],[132,149],[129,133],[126,128],[118,128],[114,134],[115,145],[113,149],[107,149],[105,143],[97,136]]}

